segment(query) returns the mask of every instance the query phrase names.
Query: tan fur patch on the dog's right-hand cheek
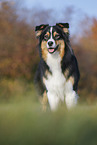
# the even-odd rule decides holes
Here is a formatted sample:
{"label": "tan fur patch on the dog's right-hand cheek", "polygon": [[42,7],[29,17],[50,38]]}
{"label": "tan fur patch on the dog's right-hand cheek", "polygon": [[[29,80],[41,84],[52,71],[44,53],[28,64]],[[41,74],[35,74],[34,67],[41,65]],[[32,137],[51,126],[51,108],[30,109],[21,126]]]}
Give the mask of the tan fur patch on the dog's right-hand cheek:
{"label": "tan fur patch on the dog's right-hand cheek", "polygon": [[59,51],[61,59],[62,59],[63,56],[64,56],[64,53],[65,53],[65,43],[64,43],[64,40],[57,40],[56,41],[56,45],[59,45],[58,51]]}

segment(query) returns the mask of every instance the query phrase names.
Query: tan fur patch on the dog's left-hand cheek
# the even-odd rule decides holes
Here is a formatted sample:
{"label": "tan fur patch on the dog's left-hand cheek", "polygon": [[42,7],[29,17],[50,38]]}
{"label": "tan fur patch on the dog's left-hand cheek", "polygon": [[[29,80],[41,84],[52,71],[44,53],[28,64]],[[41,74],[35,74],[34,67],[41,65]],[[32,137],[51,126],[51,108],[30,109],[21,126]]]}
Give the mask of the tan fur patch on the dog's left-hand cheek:
{"label": "tan fur patch on the dog's left-hand cheek", "polygon": [[47,42],[46,41],[42,41],[42,43],[41,43],[41,51],[42,51],[42,58],[46,61],[47,54],[48,54]]}

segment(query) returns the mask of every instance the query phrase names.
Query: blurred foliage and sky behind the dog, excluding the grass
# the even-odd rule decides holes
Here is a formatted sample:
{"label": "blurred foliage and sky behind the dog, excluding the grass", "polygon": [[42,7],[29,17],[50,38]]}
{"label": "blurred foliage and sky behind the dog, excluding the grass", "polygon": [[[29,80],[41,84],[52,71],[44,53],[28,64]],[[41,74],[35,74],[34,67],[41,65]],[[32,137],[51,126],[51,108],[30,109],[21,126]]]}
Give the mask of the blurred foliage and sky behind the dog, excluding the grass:
{"label": "blurred foliage and sky behind the dog, excluding the grass", "polygon": [[89,103],[97,99],[96,3],[0,0],[0,100],[8,101],[31,89],[39,62],[34,28],[58,22],[70,24],[71,45],[81,74],[80,100]]}

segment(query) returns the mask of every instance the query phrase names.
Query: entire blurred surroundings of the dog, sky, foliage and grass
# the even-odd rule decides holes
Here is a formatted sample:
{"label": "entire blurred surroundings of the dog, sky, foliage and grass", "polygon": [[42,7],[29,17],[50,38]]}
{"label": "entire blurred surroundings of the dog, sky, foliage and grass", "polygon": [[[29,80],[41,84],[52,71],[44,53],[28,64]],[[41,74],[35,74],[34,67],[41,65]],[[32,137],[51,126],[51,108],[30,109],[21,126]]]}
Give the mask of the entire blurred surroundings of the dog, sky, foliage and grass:
{"label": "entire blurred surroundings of the dog, sky, foliage and grass", "polygon": [[[79,106],[41,111],[35,26],[70,24]],[[81,105],[81,106],[80,106]],[[97,1],[0,0],[0,145],[97,144]]]}

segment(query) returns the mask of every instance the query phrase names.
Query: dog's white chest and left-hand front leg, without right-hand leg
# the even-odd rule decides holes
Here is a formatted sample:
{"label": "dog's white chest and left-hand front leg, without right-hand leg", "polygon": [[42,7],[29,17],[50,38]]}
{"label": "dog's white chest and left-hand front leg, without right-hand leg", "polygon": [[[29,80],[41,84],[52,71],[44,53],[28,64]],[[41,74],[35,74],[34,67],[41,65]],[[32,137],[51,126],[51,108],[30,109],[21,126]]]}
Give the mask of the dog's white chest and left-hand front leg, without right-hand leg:
{"label": "dog's white chest and left-hand front leg, without right-hand leg", "polygon": [[58,52],[49,54],[47,57],[47,64],[52,72],[45,80],[45,85],[48,90],[47,96],[51,109],[56,108],[60,101],[64,101],[64,89],[66,79],[61,70],[61,57]]}

